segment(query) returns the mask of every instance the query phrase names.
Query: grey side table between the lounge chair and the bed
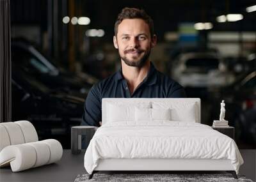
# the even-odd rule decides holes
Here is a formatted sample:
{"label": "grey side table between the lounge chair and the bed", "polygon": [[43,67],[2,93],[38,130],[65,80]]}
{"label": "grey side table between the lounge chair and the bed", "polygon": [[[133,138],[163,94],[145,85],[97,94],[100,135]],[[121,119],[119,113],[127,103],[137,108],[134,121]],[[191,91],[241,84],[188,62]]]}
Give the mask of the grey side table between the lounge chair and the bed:
{"label": "grey side table between the lounge chair and the bed", "polygon": [[81,153],[82,135],[84,135],[85,149],[88,147],[90,140],[92,139],[96,126],[72,126],[71,128],[71,153]]}

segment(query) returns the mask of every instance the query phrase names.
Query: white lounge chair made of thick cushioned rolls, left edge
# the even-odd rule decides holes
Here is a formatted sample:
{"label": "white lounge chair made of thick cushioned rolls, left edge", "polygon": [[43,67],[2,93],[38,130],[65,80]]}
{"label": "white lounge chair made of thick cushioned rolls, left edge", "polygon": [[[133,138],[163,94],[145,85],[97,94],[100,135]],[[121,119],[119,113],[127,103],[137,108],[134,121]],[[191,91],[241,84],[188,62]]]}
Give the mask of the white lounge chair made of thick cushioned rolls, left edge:
{"label": "white lounge chair made of thick cushioned rolls, left edge", "polygon": [[11,166],[13,172],[56,162],[63,149],[58,140],[38,141],[29,121],[0,123],[0,167]]}

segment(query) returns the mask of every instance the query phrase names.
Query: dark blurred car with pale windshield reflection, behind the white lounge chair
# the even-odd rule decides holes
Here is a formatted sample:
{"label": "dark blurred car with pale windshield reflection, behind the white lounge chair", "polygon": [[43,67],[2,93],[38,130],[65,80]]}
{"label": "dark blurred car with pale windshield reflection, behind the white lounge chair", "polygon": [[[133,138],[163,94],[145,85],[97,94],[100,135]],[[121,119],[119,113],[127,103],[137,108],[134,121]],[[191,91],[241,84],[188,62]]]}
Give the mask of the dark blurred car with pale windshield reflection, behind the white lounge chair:
{"label": "dark blurred car with pale windshield reflection, behind the white lounge chair", "polygon": [[12,120],[31,121],[40,139],[58,139],[70,148],[70,127],[80,125],[95,82],[55,66],[28,42],[12,41]]}

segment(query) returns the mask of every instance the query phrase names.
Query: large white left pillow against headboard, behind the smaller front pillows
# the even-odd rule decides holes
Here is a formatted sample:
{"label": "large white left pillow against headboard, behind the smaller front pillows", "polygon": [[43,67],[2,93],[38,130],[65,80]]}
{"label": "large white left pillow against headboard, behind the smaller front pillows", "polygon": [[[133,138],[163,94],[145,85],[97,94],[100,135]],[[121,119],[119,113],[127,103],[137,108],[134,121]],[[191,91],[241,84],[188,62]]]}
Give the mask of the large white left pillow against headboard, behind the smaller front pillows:
{"label": "large white left pillow against headboard, behind the smaller front pillows", "polygon": [[108,103],[107,122],[135,121],[135,107],[150,108],[150,102],[138,103]]}

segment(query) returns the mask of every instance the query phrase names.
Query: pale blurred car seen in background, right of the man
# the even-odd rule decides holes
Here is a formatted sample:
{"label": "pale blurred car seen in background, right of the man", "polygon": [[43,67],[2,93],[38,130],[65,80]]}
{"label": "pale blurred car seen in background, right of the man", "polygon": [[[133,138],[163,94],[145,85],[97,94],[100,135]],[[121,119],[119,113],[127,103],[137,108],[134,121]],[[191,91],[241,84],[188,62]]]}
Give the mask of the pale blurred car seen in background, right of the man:
{"label": "pale blurred car seen in background, right of the man", "polygon": [[172,77],[184,87],[223,86],[234,80],[234,75],[226,72],[218,54],[212,52],[181,54],[172,73]]}

